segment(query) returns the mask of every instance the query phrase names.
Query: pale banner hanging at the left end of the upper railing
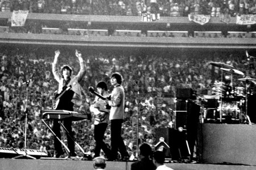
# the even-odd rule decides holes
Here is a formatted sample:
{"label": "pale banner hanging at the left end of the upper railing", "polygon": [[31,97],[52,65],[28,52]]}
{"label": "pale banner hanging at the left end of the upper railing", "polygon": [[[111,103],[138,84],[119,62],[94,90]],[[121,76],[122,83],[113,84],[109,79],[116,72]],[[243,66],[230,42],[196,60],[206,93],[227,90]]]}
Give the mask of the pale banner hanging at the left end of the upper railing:
{"label": "pale banner hanging at the left end of the upper railing", "polygon": [[22,27],[25,25],[28,11],[18,10],[13,11],[11,15],[11,27]]}

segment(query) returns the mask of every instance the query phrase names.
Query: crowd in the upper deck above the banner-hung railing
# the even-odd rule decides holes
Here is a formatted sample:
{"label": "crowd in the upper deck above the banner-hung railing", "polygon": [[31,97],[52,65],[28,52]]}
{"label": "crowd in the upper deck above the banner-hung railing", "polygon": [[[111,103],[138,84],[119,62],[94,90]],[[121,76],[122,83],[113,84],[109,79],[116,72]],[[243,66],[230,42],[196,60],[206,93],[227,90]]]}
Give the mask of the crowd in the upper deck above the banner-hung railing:
{"label": "crowd in the upper deck above the banner-hung railing", "polygon": [[256,14],[254,0],[2,0],[1,11],[28,10],[47,14],[188,16],[190,13],[218,17],[220,14]]}

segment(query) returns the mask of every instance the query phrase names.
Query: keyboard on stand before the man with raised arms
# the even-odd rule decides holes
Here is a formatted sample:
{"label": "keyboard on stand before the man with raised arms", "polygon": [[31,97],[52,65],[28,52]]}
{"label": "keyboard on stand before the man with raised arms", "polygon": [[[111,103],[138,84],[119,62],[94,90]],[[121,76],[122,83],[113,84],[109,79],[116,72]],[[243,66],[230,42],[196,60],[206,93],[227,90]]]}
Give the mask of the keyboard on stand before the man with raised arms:
{"label": "keyboard on stand before the man with raised arms", "polygon": [[63,120],[71,118],[72,121],[80,121],[87,118],[85,114],[65,110],[44,110],[43,118]]}

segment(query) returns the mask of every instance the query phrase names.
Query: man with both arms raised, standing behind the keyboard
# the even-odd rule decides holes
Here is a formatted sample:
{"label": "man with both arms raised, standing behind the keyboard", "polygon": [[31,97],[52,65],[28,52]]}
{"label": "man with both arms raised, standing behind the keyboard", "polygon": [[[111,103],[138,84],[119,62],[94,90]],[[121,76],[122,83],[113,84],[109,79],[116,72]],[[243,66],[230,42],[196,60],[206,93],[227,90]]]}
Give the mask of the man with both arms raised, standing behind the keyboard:
{"label": "man with both arms raised, standing behind the keyboard", "polygon": [[[79,51],[76,50],[76,57],[79,59],[80,63],[80,71],[77,75],[72,75],[72,68],[68,65],[64,65],[61,67],[61,71],[59,72],[57,69],[57,61],[60,56],[60,51],[55,51],[55,57],[54,61],[52,63],[52,73],[54,78],[59,83],[59,89],[58,89],[58,102],[55,103],[53,108],[56,110],[67,110],[67,111],[73,111],[74,105],[81,105],[81,90],[80,90],[80,84],[82,78],[84,78],[84,75],[86,73],[85,70],[85,63],[82,59],[82,55]],[[60,97],[61,96],[61,97]],[[72,120],[66,119],[63,120],[63,124],[68,132],[67,134],[67,141],[68,141],[68,149],[69,149],[69,156],[76,156],[75,153],[75,142],[73,141],[73,133],[72,133]],[[61,133],[60,133],[60,124],[58,120],[53,120],[53,132],[56,134],[56,136],[60,139]],[[68,135],[69,134],[69,135]],[[64,151],[61,147],[60,141],[54,136],[54,147],[55,147],[55,155],[56,158],[60,158],[61,155],[64,154]]]}

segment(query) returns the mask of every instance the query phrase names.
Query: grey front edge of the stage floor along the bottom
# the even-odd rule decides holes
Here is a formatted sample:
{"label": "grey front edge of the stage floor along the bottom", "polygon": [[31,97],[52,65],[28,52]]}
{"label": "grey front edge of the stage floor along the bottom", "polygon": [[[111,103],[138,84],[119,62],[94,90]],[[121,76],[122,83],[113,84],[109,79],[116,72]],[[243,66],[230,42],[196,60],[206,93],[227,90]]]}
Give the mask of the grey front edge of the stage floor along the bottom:
{"label": "grey front edge of the stage floor along the bottom", "polygon": [[[107,162],[106,169],[108,170],[130,170],[131,163],[133,162]],[[249,170],[256,169],[256,166],[250,165],[224,165],[224,164],[190,164],[190,163],[167,163],[167,167],[175,170],[217,170],[217,169],[230,169],[230,170]],[[42,159],[0,159],[0,169],[4,170],[53,170],[53,169],[93,169],[93,162],[87,160],[42,160]]]}

